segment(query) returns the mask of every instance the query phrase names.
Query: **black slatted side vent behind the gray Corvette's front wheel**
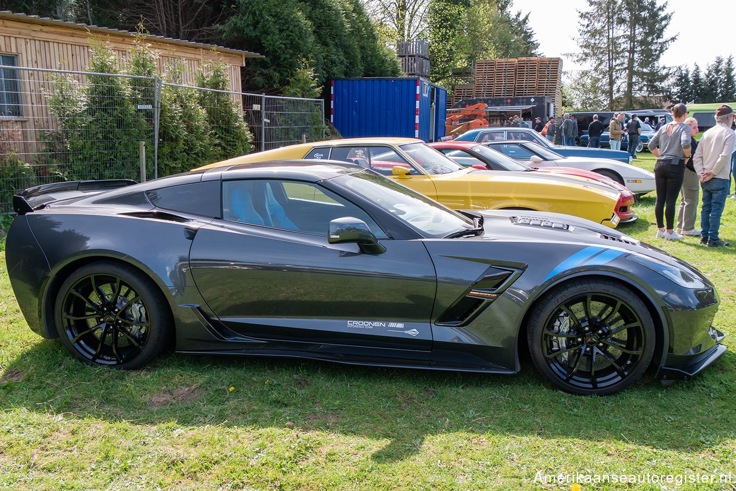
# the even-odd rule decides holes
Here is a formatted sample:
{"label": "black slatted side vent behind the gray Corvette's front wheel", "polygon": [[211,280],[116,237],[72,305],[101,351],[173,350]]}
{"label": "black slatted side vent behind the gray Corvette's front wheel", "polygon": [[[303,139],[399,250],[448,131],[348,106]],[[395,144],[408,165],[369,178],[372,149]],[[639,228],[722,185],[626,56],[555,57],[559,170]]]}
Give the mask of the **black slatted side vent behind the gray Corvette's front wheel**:
{"label": "black slatted side vent behind the gray Corvette's front wheel", "polygon": [[464,325],[484,309],[520,277],[520,269],[491,266],[481,278],[437,317],[437,325]]}

